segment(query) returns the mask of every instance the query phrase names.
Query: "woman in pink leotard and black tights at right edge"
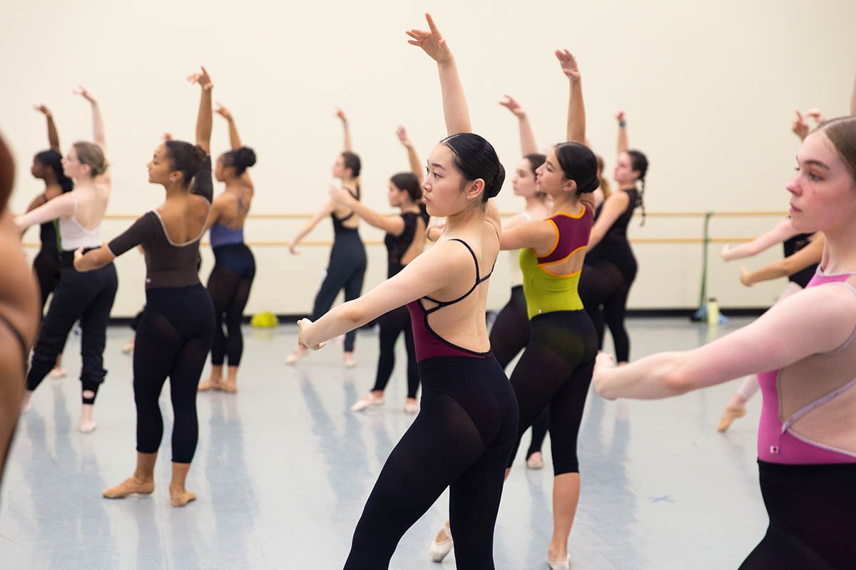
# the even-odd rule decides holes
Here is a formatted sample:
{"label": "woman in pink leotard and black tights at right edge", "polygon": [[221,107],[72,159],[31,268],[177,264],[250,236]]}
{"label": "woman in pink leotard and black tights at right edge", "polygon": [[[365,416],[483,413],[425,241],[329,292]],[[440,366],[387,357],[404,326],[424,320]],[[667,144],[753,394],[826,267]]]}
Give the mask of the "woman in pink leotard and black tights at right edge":
{"label": "woman in pink leotard and black tights at right edge", "polygon": [[[856,117],[805,138],[786,186],[794,228],[823,232],[817,274],[758,320],[710,344],[614,367],[608,399],[656,399],[760,373],[758,472],[770,526],[741,570],[849,568],[856,543]],[[771,372],[766,372],[771,371]]]}

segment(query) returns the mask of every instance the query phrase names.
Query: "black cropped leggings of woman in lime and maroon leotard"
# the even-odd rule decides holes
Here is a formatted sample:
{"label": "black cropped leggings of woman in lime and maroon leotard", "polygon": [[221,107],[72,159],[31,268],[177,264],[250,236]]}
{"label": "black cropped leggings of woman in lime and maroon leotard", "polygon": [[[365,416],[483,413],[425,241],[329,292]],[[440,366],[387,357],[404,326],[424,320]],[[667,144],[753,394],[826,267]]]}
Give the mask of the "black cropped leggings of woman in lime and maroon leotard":
{"label": "black cropped leggings of woman in lime and maroon leotard", "polygon": [[[577,436],[597,356],[597,335],[584,310],[536,314],[531,323],[532,338],[511,374],[520,407],[517,444],[549,407],[553,473],[579,473]],[[516,451],[515,446],[508,467]]]}

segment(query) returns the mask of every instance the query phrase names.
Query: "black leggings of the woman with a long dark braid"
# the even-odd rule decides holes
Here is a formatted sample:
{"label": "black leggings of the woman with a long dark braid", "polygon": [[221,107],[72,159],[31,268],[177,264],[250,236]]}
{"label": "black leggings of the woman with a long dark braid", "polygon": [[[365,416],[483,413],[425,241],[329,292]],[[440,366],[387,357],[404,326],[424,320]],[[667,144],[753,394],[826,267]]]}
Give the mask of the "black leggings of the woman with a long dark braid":
{"label": "black leggings of the woman with a long dark braid", "polygon": [[619,362],[630,359],[630,338],[624,326],[630,285],[633,285],[633,279],[627,280],[609,261],[584,265],[580,274],[580,299],[597,331],[597,346],[603,346],[605,321],[615,344],[615,360]]}

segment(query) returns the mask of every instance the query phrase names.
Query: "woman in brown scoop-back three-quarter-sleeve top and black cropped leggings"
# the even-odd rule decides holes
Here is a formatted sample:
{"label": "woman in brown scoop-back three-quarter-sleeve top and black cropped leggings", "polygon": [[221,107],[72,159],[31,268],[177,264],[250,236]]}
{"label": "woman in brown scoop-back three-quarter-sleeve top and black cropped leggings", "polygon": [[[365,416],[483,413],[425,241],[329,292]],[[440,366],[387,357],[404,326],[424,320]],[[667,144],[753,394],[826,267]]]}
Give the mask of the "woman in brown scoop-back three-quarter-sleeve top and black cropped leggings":
{"label": "woman in brown scoop-back three-quarter-sleeve top and black cropped leggings", "polygon": [[146,252],[146,309],[134,345],[134,403],[137,408],[137,467],[104,497],[121,498],[154,491],[155,461],[163,438],[158,398],[169,376],[172,428],[172,480],[169,499],[183,507],[196,495],[187,491],[187,472],[196,450],[199,422],[196,386],[214,335],[214,306],[199,282],[199,240],[211,210],[211,76],[201,69],[188,78],[201,88],[196,145],[167,139],[148,163],[149,182],[162,185],[166,199],[138,218],[109,244],[74,254],[74,267],[91,271],[142,245]]}

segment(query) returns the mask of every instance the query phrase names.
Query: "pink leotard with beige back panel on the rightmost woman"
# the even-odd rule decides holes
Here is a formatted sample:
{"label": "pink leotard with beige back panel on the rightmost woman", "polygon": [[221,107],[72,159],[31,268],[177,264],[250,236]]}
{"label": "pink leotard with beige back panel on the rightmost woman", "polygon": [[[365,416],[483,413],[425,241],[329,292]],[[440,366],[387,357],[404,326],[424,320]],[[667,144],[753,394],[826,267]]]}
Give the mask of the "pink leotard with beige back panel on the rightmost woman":
{"label": "pink leotard with beige back panel on the rightmost woman", "polygon": [[[825,275],[817,269],[806,285],[846,283],[856,273]],[[847,341],[831,352],[758,374],[764,395],[758,426],[758,459],[805,465],[856,463],[856,436],[841,425],[856,421],[856,323]]]}

